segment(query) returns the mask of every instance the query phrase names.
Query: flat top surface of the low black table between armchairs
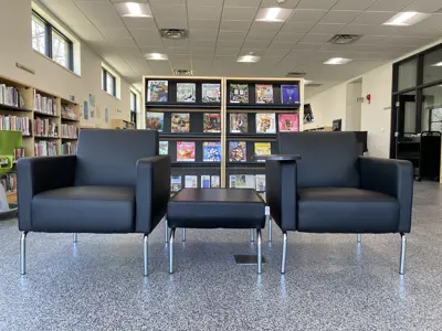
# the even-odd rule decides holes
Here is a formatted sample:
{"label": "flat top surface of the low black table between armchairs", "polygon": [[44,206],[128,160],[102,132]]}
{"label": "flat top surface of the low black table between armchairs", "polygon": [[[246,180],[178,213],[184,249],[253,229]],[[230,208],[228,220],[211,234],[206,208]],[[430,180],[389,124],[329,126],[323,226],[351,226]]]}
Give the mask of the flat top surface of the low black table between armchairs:
{"label": "flat top surface of the low black table between armchairs", "polygon": [[262,197],[253,189],[182,189],[170,201],[173,202],[239,202],[262,203]]}

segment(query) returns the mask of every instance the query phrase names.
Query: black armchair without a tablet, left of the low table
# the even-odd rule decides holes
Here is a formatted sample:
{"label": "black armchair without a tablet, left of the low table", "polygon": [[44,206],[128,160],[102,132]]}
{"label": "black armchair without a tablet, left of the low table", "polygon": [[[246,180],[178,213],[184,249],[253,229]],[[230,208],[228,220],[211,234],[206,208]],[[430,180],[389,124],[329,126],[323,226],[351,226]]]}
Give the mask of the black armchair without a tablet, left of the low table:
{"label": "black armchair without a tablet, left of the low table", "polygon": [[82,130],[76,156],[20,159],[18,197],[20,273],[28,232],[143,233],[167,212],[170,158],[158,154],[158,132]]}

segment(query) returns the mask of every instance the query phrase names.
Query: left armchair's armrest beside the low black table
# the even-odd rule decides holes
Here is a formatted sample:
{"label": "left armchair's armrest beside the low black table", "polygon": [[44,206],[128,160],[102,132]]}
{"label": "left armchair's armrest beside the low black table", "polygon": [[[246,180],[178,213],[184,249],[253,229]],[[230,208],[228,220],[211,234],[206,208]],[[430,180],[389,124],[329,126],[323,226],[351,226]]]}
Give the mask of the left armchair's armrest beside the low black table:
{"label": "left armchair's armrest beside the low black table", "polygon": [[137,162],[135,231],[149,234],[166,215],[170,199],[170,157],[156,156]]}

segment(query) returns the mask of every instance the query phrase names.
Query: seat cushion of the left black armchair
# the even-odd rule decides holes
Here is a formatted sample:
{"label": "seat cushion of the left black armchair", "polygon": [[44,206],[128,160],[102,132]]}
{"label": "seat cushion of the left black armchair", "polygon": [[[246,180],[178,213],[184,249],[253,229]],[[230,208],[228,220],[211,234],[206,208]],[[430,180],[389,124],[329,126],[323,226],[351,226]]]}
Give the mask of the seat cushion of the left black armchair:
{"label": "seat cushion of the left black armchair", "polygon": [[42,192],[32,200],[32,227],[41,232],[134,232],[134,189],[72,186]]}

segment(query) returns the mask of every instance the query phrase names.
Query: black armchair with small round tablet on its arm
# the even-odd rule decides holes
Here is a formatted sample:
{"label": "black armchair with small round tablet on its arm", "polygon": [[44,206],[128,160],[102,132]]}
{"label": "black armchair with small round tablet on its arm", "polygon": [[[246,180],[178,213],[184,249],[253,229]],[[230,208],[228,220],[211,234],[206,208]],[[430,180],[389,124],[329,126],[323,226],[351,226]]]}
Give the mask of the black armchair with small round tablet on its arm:
{"label": "black armchair with small round tablet on its arm", "polygon": [[406,233],[411,228],[413,168],[408,161],[358,157],[354,132],[278,135],[280,153],[269,158],[266,197],[283,231],[285,273],[287,231],[307,233],[399,233],[400,274]]}

